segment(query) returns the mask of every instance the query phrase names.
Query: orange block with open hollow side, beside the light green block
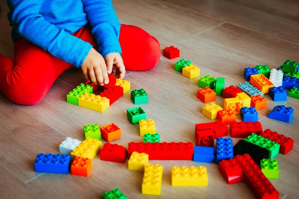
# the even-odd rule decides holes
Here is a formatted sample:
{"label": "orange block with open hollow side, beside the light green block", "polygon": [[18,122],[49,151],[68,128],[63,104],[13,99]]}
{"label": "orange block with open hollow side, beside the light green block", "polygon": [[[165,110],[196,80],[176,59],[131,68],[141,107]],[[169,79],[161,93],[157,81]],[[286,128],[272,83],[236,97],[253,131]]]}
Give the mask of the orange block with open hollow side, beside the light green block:
{"label": "orange block with open hollow side, beside the light green block", "polygon": [[103,125],[100,129],[102,137],[108,142],[122,137],[122,129],[120,129],[120,127],[118,127],[115,123]]}

